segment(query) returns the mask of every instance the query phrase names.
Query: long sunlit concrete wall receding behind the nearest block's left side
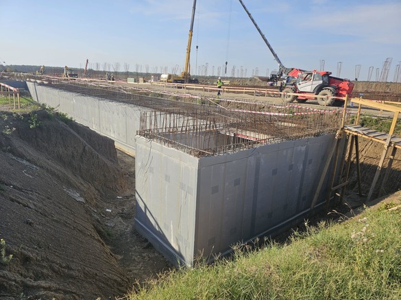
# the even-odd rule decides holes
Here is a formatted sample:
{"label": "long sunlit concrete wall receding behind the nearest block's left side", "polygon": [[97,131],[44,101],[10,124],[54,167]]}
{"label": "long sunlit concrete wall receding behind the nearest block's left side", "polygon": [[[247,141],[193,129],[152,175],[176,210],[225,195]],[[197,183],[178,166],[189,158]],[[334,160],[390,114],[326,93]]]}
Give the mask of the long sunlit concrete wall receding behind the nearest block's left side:
{"label": "long sunlit concrete wall receding behind the nearest block's left side", "polygon": [[120,149],[135,154],[135,136],[141,111],[147,108],[59,90],[35,82],[27,82],[27,87],[35,101],[68,114],[78,123],[112,138]]}

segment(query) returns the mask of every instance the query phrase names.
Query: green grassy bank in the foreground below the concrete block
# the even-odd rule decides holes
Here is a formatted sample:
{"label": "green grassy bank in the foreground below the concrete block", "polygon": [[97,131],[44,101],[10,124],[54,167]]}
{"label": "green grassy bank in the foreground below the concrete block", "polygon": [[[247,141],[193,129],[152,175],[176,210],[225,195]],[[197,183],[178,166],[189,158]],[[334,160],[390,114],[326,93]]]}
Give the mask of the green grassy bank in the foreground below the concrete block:
{"label": "green grassy bank in the foreground below the concrete block", "polygon": [[401,209],[308,227],[287,245],[171,271],[125,299],[401,299]]}

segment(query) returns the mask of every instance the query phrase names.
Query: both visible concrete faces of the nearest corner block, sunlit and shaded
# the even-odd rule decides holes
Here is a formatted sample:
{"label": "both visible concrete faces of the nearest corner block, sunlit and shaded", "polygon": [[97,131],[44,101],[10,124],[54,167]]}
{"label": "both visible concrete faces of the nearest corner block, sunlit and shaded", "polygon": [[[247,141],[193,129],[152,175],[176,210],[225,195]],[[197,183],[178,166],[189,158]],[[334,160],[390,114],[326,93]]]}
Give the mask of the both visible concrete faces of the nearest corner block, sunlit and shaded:
{"label": "both visible concrete faces of the nearest corner block, sunlit and shaded", "polygon": [[[334,135],[195,158],[137,137],[136,227],[169,260],[227,253],[310,212]],[[326,196],[324,183],[316,208]]]}

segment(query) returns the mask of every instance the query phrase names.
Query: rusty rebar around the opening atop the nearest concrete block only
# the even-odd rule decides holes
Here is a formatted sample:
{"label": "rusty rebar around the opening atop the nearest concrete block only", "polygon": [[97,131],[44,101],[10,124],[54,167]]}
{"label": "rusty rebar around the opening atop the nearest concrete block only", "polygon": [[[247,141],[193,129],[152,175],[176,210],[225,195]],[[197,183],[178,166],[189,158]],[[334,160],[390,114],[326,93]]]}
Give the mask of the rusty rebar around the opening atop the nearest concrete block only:
{"label": "rusty rebar around the opening atop the nearest concrete block only", "polygon": [[216,112],[206,114],[202,110],[184,114],[182,111],[152,111],[141,112],[141,129],[137,134],[202,157],[331,134],[337,131],[339,122],[341,114],[285,113],[273,116],[236,112],[226,116]]}

